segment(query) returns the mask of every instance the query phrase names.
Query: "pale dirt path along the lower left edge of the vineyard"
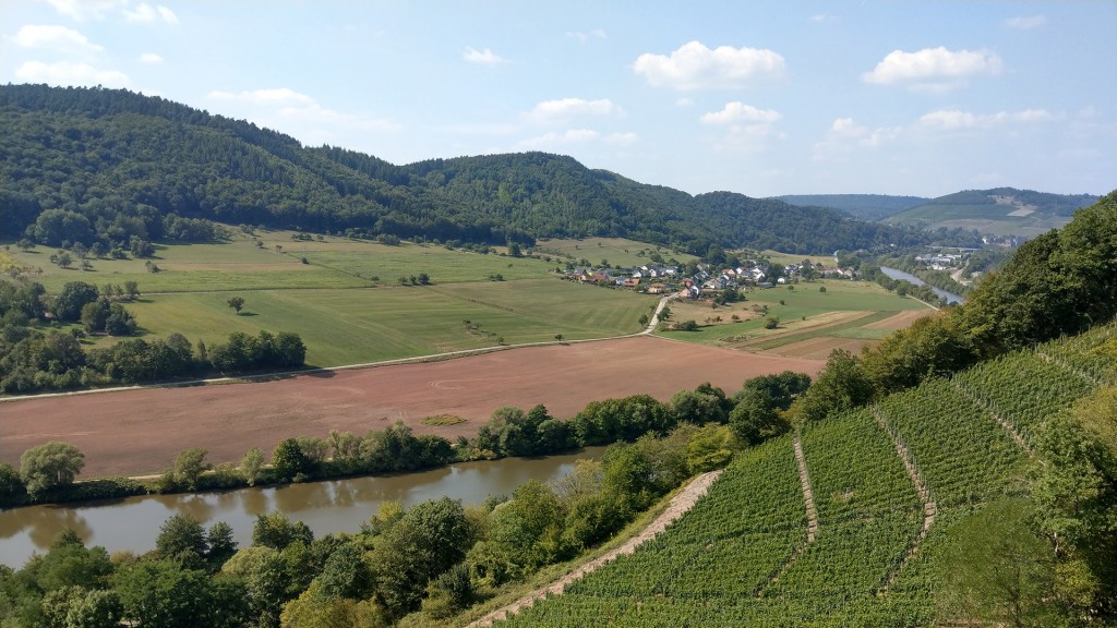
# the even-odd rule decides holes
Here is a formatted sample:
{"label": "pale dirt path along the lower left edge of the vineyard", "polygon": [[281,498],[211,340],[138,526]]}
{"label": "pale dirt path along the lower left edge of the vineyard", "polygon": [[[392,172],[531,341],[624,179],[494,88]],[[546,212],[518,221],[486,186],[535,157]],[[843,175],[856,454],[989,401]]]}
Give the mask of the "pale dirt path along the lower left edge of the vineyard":
{"label": "pale dirt path along the lower left edge of the vineyard", "polygon": [[662,532],[671,522],[682,516],[687,511],[694,506],[703,495],[709,491],[709,486],[714,483],[717,477],[722,475],[720,470],[704,473],[698,477],[694,478],[679,492],[678,495],[671,498],[670,504],[668,504],[667,510],[663,511],[655,521],[648,524],[639,534],[629,539],[623,545],[617,548],[615,550],[599,556],[582,567],[575,569],[574,571],[563,575],[554,582],[541,587],[531,593],[519,598],[518,600],[512,602],[508,606],[500,607],[485,617],[469,624],[466,628],[480,628],[483,626],[491,626],[495,621],[502,619],[507,619],[510,615],[516,615],[521,609],[525,607],[531,607],[535,603],[535,600],[541,600],[547,596],[557,596],[562,593],[567,584],[581,580],[586,573],[590,573],[598,569],[599,567],[612,561],[618,556],[624,554],[631,554],[637,548],[652,540],[657,534]]}

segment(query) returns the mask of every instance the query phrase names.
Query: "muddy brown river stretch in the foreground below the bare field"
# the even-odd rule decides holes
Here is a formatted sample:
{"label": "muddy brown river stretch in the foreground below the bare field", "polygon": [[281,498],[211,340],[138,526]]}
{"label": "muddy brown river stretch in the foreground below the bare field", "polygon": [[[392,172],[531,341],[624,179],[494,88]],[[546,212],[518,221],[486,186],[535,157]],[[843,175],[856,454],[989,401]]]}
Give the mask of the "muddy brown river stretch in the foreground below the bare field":
{"label": "muddy brown river stretch in the foreground below the bare field", "polygon": [[569,473],[575,460],[602,454],[604,447],[590,447],[577,454],[461,463],[393,476],[0,511],[0,564],[22,567],[34,552],[46,552],[66,527],[76,530],[86,545],[103,545],[109,552],[154,550],[160,526],[175,514],[192,515],[207,529],[219,521],[228,523],[241,548],[251,544],[256,516],[277,510],[305,522],[316,536],[356,532],[383,502],[410,506],[445,495],[464,504],[480,504],[489,495],[510,495],[529,479],[556,479]]}

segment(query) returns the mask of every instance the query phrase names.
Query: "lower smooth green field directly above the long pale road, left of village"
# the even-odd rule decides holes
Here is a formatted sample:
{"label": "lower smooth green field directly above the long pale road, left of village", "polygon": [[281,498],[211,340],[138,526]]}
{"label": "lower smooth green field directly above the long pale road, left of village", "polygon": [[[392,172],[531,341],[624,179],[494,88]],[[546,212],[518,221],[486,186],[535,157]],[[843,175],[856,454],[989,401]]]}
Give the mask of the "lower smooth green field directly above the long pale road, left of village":
{"label": "lower smooth green field directly above the long pale road, left of village", "polygon": [[[639,331],[655,299],[558,279],[366,289],[245,293],[240,315],[228,293],[145,296],[130,304],[152,337],[172,332],[191,342],[230,332],[298,333],[307,363],[333,367],[506,344],[601,337]],[[469,321],[470,325],[466,325]],[[102,339],[99,342],[113,342]]]}

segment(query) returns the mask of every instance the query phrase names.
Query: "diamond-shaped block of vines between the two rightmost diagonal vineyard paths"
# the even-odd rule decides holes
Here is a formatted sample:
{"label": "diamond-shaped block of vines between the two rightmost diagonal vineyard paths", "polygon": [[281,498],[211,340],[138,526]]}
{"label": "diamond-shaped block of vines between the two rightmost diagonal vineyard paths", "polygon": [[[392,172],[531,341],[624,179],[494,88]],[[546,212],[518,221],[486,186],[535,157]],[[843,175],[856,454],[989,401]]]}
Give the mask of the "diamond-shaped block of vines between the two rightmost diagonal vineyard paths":
{"label": "diamond-shaped block of vines between the two rightmost diagonal vineyard paths", "polygon": [[958,373],[954,381],[994,413],[1016,426],[1029,441],[1051,415],[1094,389],[1090,380],[1019,351]]}

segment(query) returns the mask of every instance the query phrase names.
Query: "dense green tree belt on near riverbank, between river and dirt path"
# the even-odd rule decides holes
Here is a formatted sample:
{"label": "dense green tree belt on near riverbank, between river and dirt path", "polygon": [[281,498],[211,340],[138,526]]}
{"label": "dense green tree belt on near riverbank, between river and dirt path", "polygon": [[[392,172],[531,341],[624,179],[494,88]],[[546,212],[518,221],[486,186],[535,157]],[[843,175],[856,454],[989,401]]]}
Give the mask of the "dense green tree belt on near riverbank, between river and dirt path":
{"label": "dense green tree belt on near riverbank, between river and dirt path", "polygon": [[[12,626],[106,628],[372,627],[417,611],[417,620],[442,619],[609,537],[709,468],[705,453],[727,439],[720,426],[645,436],[580,460],[553,484],[532,480],[480,506],[447,497],[409,510],[385,503],[356,534],[315,537],[306,524],[267,513],[251,546],[239,549],[228,525],[206,530],[175,515],[153,551],[111,558],[66,532],[22,569],[0,567],[0,616]],[[198,460],[180,458],[182,467]]]}

